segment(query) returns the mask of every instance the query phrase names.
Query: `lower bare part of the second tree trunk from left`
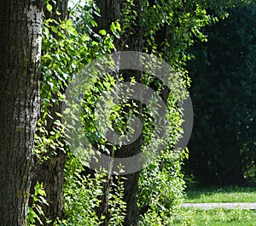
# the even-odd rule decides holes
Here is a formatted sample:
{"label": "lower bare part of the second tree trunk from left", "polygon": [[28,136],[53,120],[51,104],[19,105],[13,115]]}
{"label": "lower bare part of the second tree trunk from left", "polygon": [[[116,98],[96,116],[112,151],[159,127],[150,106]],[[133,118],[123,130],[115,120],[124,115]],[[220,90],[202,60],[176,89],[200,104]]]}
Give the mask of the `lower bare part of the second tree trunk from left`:
{"label": "lower bare part of the second tree trunk from left", "polygon": [[[59,105],[53,105],[50,109],[50,116],[53,118],[47,119],[47,131],[53,131],[55,127],[55,120],[58,119],[58,116],[54,112],[61,112]],[[52,113],[52,114],[51,114]],[[33,187],[37,182],[44,184],[44,191],[46,194],[46,200],[48,201],[49,206],[43,205],[44,216],[51,220],[48,225],[53,225],[56,218],[64,217],[64,206],[63,206],[63,185],[64,177],[63,171],[65,167],[66,153],[63,150],[56,148],[48,148],[48,159],[39,162],[37,161],[37,174],[32,179],[32,191]],[[46,225],[45,218],[41,218],[41,221]],[[37,222],[37,225],[41,225]]]}

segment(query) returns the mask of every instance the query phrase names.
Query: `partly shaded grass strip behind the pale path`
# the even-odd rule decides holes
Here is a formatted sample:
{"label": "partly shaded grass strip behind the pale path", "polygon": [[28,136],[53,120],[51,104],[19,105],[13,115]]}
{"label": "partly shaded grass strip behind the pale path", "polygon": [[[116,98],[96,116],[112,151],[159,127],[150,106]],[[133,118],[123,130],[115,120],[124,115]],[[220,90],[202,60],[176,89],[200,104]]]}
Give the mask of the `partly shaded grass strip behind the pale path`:
{"label": "partly shaded grass strip behind the pale path", "polygon": [[256,202],[256,187],[188,188],[184,202]]}

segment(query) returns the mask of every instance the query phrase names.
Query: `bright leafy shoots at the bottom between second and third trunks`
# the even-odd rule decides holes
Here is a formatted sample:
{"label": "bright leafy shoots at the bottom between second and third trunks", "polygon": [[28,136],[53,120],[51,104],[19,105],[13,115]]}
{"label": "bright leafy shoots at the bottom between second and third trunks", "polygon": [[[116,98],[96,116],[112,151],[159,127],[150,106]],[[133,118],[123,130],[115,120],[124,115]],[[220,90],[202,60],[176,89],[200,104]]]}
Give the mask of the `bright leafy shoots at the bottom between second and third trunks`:
{"label": "bright leafy shoots at the bottom between second and third trunks", "polygon": [[81,163],[70,156],[66,164],[67,181],[64,187],[67,220],[61,221],[61,225],[99,225],[103,220],[103,217],[96,216],[94,208],[100,205],[104,175],[84,177],[82,171]]}

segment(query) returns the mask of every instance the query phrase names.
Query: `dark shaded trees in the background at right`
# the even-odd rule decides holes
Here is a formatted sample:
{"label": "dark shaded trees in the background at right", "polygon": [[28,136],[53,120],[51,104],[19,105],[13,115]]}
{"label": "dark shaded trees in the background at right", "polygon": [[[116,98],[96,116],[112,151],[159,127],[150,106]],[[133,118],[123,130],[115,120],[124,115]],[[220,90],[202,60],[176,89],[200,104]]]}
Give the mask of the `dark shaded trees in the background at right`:
{"label": "dark shaded trees in the background at right", "polygon": [[243,184],[255,164],[255,10],[255,3],[230,9],[227,20],[207,28],[208,42],[191,49],[195,124],[187,167],[203,184]]}

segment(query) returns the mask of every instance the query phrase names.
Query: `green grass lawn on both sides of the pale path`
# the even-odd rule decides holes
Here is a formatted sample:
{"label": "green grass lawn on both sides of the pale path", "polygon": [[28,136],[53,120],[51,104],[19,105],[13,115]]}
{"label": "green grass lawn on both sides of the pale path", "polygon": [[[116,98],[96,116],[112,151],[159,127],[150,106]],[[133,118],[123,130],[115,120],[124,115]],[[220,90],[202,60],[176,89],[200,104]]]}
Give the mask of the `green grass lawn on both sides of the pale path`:
{"label": "green grass lawn on both sides of the pale path", "polygon": [[[187,196],[184,202],[206,203],[206,202],[256,202],[256,188],[207,188],[198,189],[190,187],[186,190]],[[165,217],[165,216],[164,216]],[[151,219],[151,218],[150,218]],[[212,210],[201,210],[197,208],[180,208],[172,216],[165,217],[163,222],[155,216],[143,221],[143,226],[256,226],[256,210],[241,210],[216,208]]]}

